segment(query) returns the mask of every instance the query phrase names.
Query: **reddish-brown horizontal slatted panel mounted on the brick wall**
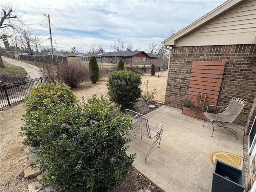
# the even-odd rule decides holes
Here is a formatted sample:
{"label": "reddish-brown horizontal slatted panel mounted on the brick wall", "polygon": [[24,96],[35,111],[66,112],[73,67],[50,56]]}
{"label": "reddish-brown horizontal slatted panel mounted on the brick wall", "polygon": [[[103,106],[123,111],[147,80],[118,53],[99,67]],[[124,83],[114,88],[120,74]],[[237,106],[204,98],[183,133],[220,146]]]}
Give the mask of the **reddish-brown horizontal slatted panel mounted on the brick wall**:
{"label": "reddish-brown horizontal slatted panel mounted on the brick wall", "polygon": [[[190,82],[188,88],[188,98],[192,105],[196,106],[196,97],[198,107],[205,105],[216,105],[220,93],[220,86],[224,74],[225,62],[218,61],[194,61],[192,62]],[[200,103],[200,96],[206,94],[205,102],[203,98]]]}

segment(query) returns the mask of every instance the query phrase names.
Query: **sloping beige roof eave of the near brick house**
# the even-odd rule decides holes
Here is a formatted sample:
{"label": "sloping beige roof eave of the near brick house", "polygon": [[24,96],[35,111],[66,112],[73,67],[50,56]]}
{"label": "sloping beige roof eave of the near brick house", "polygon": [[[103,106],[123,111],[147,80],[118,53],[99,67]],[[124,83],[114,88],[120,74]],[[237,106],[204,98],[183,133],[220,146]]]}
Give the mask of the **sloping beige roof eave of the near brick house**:
{"label": "sloping beige roof eave of the near brick house", "polygon": [[182,38],[186,34],[196,30],[200,26],[206,24],[207,22],[210,22],[211,20],[220,16],[220,14],[223,14],[224,12],[227,12],[228,10],[230,10],[231,8],[236,6],[237,4],[240,4],[244,1],[245,0],[239,0],[239,1],[237,1],[237,0],[228,0],[228,1],[224,2],[220,6],[218,6],[217,8],[212,10],[211,12],[209,12],[208,14],[202,16],[201,18],[199,18],[198,20],[196,20],[195,22],[193,22],[189,26],[182,29],[180,32],[177,32],[176,34],[174,34],[173,36],[169,37],[168,39],[164,40],[161,43],[165,46],[171,46],[171,47],[175,46],[176,40],[178,40],[179,38]]}

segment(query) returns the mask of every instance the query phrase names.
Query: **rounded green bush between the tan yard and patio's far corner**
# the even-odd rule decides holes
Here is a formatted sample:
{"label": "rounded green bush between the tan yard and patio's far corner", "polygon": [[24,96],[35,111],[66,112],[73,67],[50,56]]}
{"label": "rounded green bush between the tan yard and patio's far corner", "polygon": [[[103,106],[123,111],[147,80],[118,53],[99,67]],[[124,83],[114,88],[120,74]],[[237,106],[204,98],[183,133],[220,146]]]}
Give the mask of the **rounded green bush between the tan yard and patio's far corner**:
{"label": "rounded green bush between the tan yard and patio's far corner", "polygon": [[130,70],[121,70],[108,74],[106,86],[110,100],[126,109],[134,106],[140,98],[142,92],[140,84],[140,74]]}

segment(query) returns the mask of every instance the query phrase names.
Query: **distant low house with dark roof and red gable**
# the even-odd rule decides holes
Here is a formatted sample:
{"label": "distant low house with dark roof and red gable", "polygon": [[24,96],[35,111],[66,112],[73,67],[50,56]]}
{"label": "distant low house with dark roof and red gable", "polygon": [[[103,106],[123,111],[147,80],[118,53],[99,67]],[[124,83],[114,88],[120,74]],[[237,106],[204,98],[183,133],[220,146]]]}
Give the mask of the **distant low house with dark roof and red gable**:
{"label": "distant low house with dark roof and red gable", "polygon": [[122,58],[125,64],[146,65],[158,61],[159,56],[144,51],[107,52],[101,55],[103,63],[117,64]]}

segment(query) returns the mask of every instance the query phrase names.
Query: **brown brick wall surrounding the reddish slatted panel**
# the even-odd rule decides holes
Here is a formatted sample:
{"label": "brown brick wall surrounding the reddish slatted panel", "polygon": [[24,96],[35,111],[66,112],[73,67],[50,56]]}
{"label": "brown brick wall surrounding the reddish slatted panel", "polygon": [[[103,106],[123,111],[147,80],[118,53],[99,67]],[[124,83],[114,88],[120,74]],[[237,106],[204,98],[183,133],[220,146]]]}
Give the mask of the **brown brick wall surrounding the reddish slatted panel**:
{"label": "brown brick wall surrounding the reddish slatted panel", "polygon": [[188,95],[192,61],[225,61],[218,105],[226,105],[232,97],[246,100],[247,104],[235,123],[245,126],[256,93],[256,45],[222,45],[174,47],[165,104],[182,108]]}

